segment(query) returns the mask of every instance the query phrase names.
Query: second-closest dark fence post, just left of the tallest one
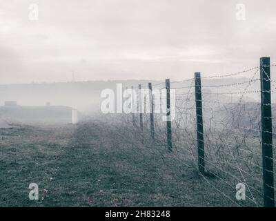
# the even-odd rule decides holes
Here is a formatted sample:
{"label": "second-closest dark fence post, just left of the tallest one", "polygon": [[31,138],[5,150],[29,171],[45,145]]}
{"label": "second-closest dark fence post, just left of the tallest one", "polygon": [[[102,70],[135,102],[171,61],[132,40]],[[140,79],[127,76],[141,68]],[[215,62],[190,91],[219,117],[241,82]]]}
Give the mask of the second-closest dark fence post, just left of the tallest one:
{"label": "second-closest dark fence post, just left of the tallest one", "polygon": [[200,73],[195,73],[195,105],[197,115],[197,149],[199,172],[204,174],[204,133],[202,120],[202,97],[201,97],[201,77]]}

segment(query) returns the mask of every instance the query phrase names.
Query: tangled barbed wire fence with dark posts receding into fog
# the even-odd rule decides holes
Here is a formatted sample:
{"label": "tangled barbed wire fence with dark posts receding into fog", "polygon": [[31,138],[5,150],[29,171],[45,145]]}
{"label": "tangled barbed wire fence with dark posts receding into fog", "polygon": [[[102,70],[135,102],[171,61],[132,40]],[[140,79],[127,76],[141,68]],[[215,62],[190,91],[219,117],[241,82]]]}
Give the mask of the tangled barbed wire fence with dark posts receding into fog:
{"label": "tangled barbed wire fence with dark posts receding into fog", "polygon": [[[132,86],[136,110],[119,119],[128,131],[121,139],[135,137],[148,151],[157,151],[165,164],[170,155],[185,169],[197,169],[203,182],[234,206],[275,206],[276,118],[271,95],[276,80],[270,78],[275,66],[261,58],[260,66],[238,73],[195,73],[191,79]],[[221,84],[221,79],[227,83]],[[146,97],[143,89],[148,89]],[[159,108],[166,115],[156,111]],[[245,201],[235,197],[239,183],[246,187]]]}

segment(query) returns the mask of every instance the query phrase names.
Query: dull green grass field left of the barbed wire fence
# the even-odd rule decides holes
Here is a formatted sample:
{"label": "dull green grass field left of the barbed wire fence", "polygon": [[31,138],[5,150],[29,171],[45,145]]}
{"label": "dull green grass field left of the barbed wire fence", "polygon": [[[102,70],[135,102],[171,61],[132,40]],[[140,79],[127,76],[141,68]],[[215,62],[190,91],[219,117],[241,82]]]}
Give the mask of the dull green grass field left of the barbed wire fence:
{"label": "dull green grass field left of the barbed wire fence", "polygon": [[97,121],[1,129],[0,206],[237,206],[190,160],[122,132]]}

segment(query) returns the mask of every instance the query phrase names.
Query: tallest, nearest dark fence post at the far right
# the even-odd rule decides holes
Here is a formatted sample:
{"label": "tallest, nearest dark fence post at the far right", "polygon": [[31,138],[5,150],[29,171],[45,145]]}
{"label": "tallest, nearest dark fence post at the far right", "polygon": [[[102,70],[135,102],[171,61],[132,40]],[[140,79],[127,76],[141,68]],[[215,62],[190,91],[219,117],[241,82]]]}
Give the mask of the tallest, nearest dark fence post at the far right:
{"label": "tallest, nearest dark fence post at the far right", "polygon": [[270,58],[260,59],[264,206],[274,207],[273,134],[270,94]]}

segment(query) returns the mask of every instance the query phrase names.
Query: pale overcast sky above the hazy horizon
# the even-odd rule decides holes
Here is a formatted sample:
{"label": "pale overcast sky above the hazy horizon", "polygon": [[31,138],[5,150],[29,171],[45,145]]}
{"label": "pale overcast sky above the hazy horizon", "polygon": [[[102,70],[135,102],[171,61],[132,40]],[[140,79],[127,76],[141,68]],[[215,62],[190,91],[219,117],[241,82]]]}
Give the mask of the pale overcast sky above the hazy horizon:
{"label": "pale overcast sky above the hazy horizon", "polygon": [[72,73],[186,79],[273,62],[275,8],[275,0],[0,0],[0,84],[72,81]]}

